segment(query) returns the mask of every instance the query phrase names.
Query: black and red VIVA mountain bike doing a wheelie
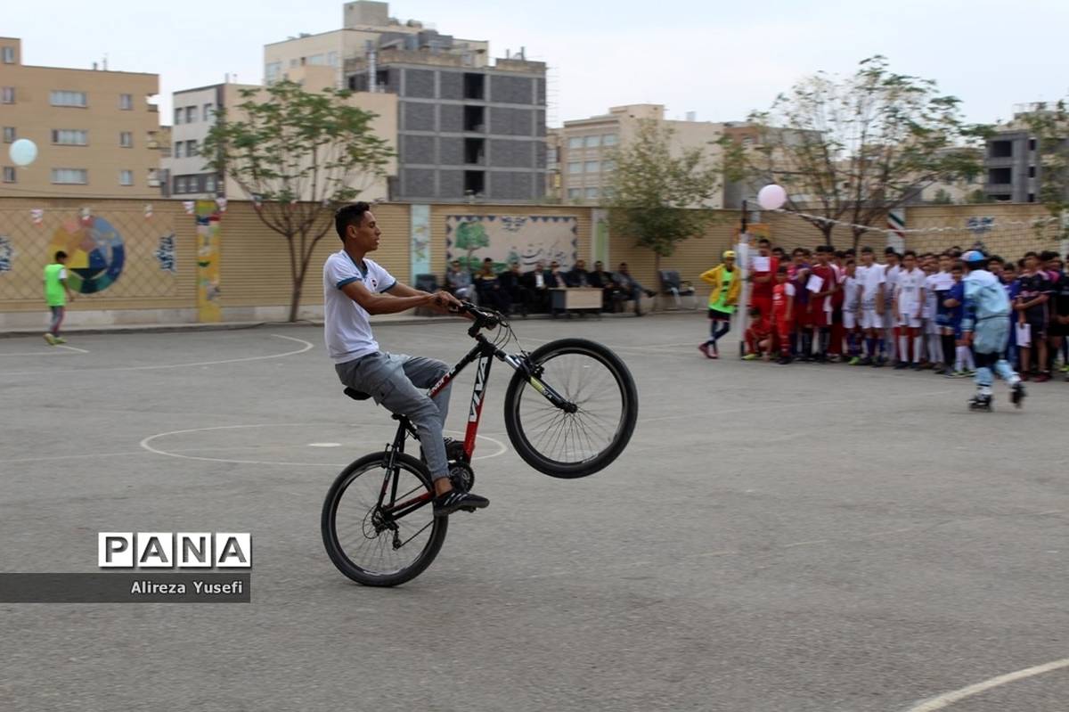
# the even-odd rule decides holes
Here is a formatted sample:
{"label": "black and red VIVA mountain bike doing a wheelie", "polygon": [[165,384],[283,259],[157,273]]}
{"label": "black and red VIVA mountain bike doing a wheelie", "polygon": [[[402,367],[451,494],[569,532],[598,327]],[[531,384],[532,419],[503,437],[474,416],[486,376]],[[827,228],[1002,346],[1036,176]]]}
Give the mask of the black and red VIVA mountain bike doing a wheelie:
{"label": "black and red VIVA mountain bike doing a wheelie", "polygon": [[[505,425],[528,465],[573,479],[593,475],[620,455],[635,429],[638,393],[616,354],[587,339],[506,353],[502,347],[510,341],[518,345],[518,340],[503,314],[467,301],[462,311],[472,319],[468,336],[476,345],[428,391],[435,396],[477,363],[464,440],[451,443],[447,451],[454,487],[470,490],[475,482],[471,455],[495,359],[514,370],[505,393]],[[493,340],[482,334],[494,328]],[[358,401],[370,398],[352,388],[345,394]],[[397,586],[418,576],[441,550],[449,524],[449,517],[434,516],[427,465],[404,451],[409,436],[418,440],[415,427],[404,416],[393,419],[393,442],[345,467],[323,502],[327,555],[339,571],[366,586]]]}

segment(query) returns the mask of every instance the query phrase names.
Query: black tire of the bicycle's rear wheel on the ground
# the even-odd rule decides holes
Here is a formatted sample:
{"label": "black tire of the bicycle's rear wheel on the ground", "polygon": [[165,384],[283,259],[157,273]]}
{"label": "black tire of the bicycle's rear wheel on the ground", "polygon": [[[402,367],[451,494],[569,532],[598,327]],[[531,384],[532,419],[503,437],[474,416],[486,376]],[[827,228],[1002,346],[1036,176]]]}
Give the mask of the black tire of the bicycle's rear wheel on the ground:
{"label": "black tire of the bicycle's rear wheel on the ground", "polygon": [[[377,572],[366,567],[361,567],[353,560],[353,558],[346,553],[344,544],[338,537],[338,508],[346,490],[354,481],[356,481],[358,477],[369,471],[376,474],[383,473],[386,456],[386,452],[373,452],[350,464],[335,479],[330,489],[327,491],[326,498],[323,501],[321,529],[323,533],[323,545],[327,550],[327,556],[330,557],[330,560],[339,571],[356,583],[365,586],[399,586],[421,574],[429,566],[431,566],[431,562],[434,561],[434,558],[441,550],[441,544],[446,540],[446,531],[449,527],[449,517],[443,516],[433,518],[433,522],[430,525],[431,533],[427,538],[427,542],[423,544],[422,551],[412,561],[412,563],[399,571]],[[412,455],[398,453],[394,456],[397,458],[396,462],[401,469],[415,476],[423,487],[425,487],[433,495],[434,485],[431,482],[431,476],[427,466]],[[425,507],[430,508],[432,505],[425,505]],[[358,511],[360,508],[355,509]]]}

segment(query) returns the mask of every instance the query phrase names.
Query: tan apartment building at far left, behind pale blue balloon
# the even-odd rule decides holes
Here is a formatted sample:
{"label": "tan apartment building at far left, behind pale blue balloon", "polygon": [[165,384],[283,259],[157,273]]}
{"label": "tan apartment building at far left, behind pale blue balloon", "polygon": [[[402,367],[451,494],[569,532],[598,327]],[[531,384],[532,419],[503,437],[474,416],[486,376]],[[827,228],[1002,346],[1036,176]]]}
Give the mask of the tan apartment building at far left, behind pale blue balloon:
{"label": "tan apartment building at far left, behind pale blue balloon", "polygon": [[[0,37],[0,196],[159,196],[159,76],[22,61]],[[37,158],[12,165],[9,144],[30,139]]]}

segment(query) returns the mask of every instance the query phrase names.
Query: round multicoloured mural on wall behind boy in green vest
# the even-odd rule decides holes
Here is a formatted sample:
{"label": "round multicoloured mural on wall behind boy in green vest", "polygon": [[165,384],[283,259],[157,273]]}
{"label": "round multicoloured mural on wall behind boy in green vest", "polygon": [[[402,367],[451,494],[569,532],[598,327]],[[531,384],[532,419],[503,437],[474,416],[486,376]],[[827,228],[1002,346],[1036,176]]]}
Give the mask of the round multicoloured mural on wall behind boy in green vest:
{"label": "round multicoloured mural on wall behind boy in green vest", "polygon": [[95,216],[69,220],[57,229],[49,259],[57,250],[67,253],[67,284],[81,294],[108,289],[122,274],[126,258],[122,235],[110,222]]}

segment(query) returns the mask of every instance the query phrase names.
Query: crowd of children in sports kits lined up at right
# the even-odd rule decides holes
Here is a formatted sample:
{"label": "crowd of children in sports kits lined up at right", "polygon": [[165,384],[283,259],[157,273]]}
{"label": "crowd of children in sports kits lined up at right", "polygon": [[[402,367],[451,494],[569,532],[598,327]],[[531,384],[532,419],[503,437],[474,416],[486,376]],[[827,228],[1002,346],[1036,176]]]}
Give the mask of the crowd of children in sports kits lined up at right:
{"label": "crowd of children in sports kits lined up at right", "polygon": [[[853,366],[894,365],[931,369],[948,377],[975,375],[974,349],[963,328],[967,269],[960,250],[919,256],[907,250],[899,256],[888,247],[882,264],[870,247],[863,247],[856,261],[853,250],[836,252],[826,245],[812,252],[796,248],[783,263],[777,253],[783,251],[761,241],[759,260],[752,262],[759,268],[746,277],[755,291],[752,320],[761,324],[754,336],[768,331],[768,338],[746,339],[750,359],[766,355],[778,356],[784,365],[825,362],[840,360],[842,354],[841,360]],[[724,265],[702,275],[718,284],[714,293],[722,305],[714,312],[710,297],[714,328],[711,339],[699,346],[710,358],[718,355],[715,342],[726,334],[723,326],[715,326],[716,313],[723,313],[725,300],[738,298],[739,270],[733,269],[730,254],[731,269],[726,254]],[[1062,370],[1069,373],[1069,275],[1060,258],[1055,252],[1029,252],[1017,265],[997,256],[985,259],[1011,305],[1013,328],[1003,355],[1011,365],[1019,357],[1025,381],[1049,380],[1059,353]]]}

